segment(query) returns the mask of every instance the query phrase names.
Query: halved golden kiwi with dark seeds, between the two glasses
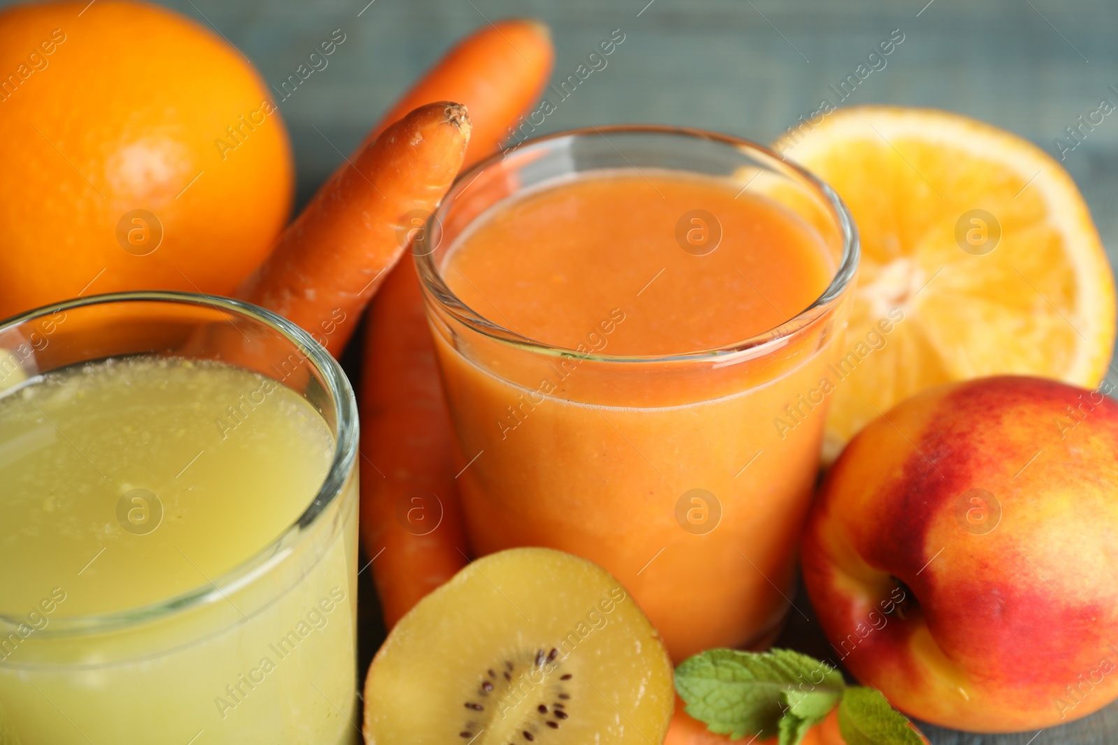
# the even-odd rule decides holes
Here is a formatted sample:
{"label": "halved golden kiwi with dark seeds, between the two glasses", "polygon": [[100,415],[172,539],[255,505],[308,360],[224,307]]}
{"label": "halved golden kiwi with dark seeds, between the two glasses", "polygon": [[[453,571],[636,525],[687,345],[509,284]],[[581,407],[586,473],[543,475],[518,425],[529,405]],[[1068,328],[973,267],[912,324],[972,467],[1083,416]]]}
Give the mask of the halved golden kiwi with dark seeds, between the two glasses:
{"label": "halved golden kiwi with dark seeds, between the two glasses", "polygon": [[479,558],[369,668],[370,745],[648,745],[675,704],[656,630],[605,570],[550,548]]}

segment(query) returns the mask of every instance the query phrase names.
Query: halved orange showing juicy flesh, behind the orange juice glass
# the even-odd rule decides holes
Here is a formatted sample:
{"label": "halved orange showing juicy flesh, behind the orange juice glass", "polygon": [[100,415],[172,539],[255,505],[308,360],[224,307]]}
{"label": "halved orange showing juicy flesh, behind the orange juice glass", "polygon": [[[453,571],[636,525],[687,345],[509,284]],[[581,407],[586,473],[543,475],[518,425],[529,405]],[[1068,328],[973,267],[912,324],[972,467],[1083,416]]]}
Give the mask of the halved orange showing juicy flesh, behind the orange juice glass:
{"label": "halved orange showing juicy flesh, behind the orange juice glass", "polygon": [[774,147],[834,187],[862,239],[825,462],[939,383],[1100,383],[1114,276],[1082,195],[1039,147],[958,114],[889,106],[839,109]]}

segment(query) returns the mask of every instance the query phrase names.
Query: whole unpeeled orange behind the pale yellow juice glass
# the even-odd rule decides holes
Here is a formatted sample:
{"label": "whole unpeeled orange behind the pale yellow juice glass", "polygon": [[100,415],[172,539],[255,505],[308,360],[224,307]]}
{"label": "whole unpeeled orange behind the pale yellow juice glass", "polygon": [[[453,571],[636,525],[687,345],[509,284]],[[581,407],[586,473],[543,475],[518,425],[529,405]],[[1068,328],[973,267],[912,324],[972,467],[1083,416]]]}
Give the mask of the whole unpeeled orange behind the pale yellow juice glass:
{"label": "whole unpeeled orange behind the pale yellow juice glass", "polygon": [[287,131],[252,64],[117,0],[0,12],[0,318],[80,294],[229,295],[291,209]]}

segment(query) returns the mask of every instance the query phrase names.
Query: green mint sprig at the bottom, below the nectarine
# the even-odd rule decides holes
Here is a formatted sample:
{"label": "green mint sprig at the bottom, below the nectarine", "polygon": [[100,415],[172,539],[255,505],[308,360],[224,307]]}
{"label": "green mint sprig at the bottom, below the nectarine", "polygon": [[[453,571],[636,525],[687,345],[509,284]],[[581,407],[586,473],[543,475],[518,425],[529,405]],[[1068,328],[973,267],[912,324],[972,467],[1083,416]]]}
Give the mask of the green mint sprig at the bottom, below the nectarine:
{"label": "green mint sprig at the bottom, below the nectarine", "polygon": [[799,745],[807,730],[839,707],[847,745],[921,745],[904,716],[873,688],[847,687],[827,662],[788,649],[711,649],[675,669],[686,713],[720,735],[779,736]]}

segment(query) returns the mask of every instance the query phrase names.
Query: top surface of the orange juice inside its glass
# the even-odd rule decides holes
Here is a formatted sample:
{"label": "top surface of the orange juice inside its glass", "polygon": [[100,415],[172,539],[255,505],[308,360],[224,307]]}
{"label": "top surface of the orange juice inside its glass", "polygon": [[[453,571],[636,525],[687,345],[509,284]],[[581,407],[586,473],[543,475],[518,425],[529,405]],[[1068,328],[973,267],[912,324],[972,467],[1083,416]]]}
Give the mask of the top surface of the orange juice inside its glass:
{"label": "top surface of the orange juice inside its glass", "polygon": [[529,338],[574,350],[619,307],[624,329],[603,352],[664,355],[779,326],[823,294],[834,265],[767,199],[651,174],[577,180],[501,206],[443,274],[466,305]]}

